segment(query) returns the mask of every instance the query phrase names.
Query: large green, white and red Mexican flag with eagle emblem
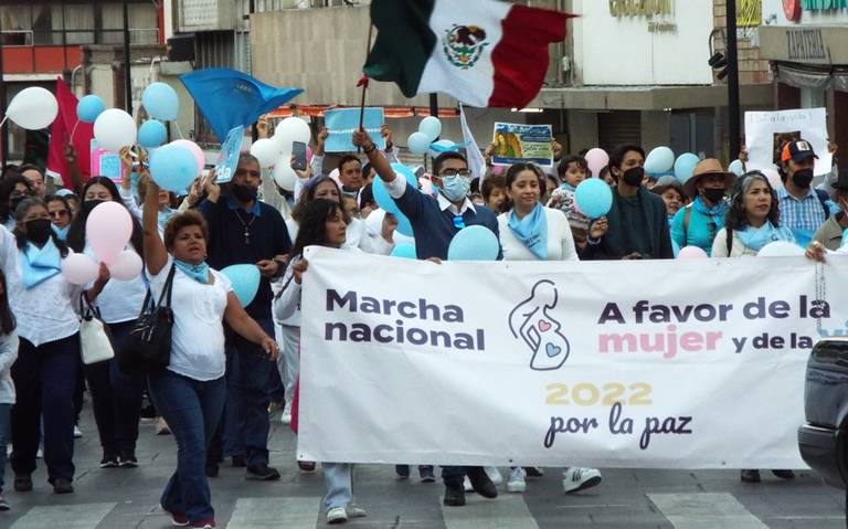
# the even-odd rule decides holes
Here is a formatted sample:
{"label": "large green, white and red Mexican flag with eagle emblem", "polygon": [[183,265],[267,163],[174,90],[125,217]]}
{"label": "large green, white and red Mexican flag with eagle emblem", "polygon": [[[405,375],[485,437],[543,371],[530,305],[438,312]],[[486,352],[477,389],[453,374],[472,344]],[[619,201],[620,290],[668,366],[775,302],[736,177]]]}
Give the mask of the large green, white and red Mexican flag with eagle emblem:
{"label": "large green, white and red Mexican flag with eagle emblem", "polygon": [[442,92],[471,106],[523,108],[569,17],[498,0],[373,0],[378,33],[364,73],[406,97]]}

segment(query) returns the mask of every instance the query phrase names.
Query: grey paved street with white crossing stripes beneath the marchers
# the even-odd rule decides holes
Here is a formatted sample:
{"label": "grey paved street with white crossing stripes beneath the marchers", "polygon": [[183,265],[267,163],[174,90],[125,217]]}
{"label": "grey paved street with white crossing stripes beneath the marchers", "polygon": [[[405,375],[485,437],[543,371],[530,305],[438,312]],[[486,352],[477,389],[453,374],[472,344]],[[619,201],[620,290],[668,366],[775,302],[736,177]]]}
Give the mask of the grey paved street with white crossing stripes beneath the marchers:
{"label": "grey paved street with white crossing stripes beneath the marchers", "polygon": [[[100,469],[97,435],[86,405],[77,441],[76,493],[55,496],[43,472],[35,490],[18,494],[8,485],[10,512],[0,514],[0,528],[113,529],[166,528],[159,493],[172,472],[172,436],[153,435],[151,422],[141,426],[137,469]],[[320,473],[304,474],[294,458],[294,435],[278,421],[271,443],[272,463],[283,473],[277,483],[243,479],[243,469],[221,467],[212,480],[218,523],[227,529],[326,527],[320,511]],[[506,473],[506,468],[501,469]],[[528,479],[528,493],[484,501],[469,495],[465,508],[443,508],[441,484],[400,482],[394,469],[363,465],[354,491],[368,517],[349,526],[427,529],[598,528],[844,528],[842,494],[808,473],[794,482],[778,482],[763,473],[760,485],[739,483],[734,472],[668,472],[604,469],[604,483],[584,494],[562,494],[559,473]],[[7,470],[11,482],[11,470]],[[501,486],[502,489],[502,486]]]}

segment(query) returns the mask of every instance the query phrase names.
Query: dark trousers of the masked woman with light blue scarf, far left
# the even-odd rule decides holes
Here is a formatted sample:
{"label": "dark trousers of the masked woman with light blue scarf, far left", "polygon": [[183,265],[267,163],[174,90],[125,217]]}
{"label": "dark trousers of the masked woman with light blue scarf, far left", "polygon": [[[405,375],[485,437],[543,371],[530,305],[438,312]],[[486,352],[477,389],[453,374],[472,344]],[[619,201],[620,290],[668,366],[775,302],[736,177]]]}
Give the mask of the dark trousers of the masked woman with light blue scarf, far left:
{"label": "dark trousers of the masked woman with light blue scarf, far left", "polygon": [[21,338],[12,366],[18,393],[11,411],[14,474],[35,472],[43,419],[47,479],[74,478],[74,389],[81,364],[80,335],[39,347]]}

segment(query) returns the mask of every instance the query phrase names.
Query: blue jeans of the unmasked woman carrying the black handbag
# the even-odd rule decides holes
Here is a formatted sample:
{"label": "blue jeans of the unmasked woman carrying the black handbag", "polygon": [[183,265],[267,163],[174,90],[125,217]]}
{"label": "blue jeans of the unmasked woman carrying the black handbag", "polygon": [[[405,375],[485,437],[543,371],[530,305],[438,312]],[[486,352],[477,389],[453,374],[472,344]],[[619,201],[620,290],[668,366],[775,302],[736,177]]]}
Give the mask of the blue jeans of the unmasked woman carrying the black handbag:
{"label": "blue jeans of the unmasked woman carrying the black handbag", "polygon": [[177,472],[160,502],[168,512],[182,512],[193,523],[215,518],[205,474],[206,446],[215,432],[226,398],[224,378],[201,382],[163,370],[148,377],[150,396],[177,440]]}

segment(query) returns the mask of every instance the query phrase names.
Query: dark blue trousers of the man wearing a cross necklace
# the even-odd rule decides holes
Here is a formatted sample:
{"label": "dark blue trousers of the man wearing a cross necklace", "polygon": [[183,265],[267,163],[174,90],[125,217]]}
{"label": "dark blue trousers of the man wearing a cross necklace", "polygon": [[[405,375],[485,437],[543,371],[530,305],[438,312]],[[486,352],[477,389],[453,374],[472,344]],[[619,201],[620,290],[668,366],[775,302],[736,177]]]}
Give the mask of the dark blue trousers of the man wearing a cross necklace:
{"label": "dark blue trousers of the man wearing a cross necklace", "polygon": [[[274,336],[274,320],[257,324]],[[242,337],[227,340],[226,409],[224,411],[223,455],[244,455],[248,466],[268,463],[268,404],[272,371],[276,363],[257,345]]]}

